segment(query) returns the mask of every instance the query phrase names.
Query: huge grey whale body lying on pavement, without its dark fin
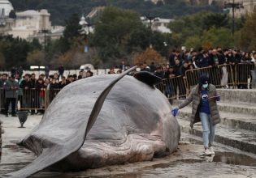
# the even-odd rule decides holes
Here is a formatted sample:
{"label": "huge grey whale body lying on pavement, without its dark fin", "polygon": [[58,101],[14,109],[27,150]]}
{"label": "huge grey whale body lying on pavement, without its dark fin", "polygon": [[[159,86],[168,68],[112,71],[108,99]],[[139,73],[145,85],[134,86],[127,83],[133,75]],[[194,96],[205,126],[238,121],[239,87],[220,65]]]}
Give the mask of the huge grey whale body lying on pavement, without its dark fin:
{"label": "huge grey whale body lying on pavement, without its dark fin", "polygon": [[50,166],[81,171],[171,154],[180,126],[170,111],[161,91],[125,74],[71,83],[20,142],[37,159],[8,176],[28,177]]}

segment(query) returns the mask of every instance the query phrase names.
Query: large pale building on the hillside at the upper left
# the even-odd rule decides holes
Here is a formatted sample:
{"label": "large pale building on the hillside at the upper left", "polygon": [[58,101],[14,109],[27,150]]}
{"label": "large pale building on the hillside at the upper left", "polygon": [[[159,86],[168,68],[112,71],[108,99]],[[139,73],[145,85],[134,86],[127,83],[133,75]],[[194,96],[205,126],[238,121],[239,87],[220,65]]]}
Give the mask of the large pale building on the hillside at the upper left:
{"label": "large pale building on the hillside at the upper left", "polygon": [[[9,16],[12,11],[12,15]],[[38,38],[44,39],[47,36],[59,38],[63,35],[63,27],[52,27],[50,13],[47,10],[41,11],[14,11],[11,2],[0,0],[0,34],[12,35],[26,40]]]}

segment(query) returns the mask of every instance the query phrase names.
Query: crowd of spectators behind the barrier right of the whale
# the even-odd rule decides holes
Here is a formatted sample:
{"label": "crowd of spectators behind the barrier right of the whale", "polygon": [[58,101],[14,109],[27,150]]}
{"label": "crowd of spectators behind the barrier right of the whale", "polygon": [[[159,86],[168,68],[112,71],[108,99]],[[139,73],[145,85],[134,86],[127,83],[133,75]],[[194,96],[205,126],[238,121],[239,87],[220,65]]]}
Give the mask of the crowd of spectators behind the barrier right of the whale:
{"label": "crowd of spectators behind the barrier right of the whale", "polygon": [[254,64],[256,62],[256,52],[242,52],[236,49],[216,49],[180,51],[173,49],[167,64],[158,65],[154,61],[150,65],[140,64],[141,70],[147,70],[160,78],[173,78],[185,76],[187,70],[204,67],[215,67],[219,65],[236,66],[239,63]]}

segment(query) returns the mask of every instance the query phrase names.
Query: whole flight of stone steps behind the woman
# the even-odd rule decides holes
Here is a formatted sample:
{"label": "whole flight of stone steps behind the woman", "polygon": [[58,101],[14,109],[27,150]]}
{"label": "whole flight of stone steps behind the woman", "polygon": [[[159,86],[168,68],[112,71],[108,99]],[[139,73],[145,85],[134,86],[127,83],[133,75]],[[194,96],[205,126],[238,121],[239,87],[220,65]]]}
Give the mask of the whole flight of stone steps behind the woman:
{"label": "whole flight of stone steps behind the woman", "polygon": [[[256,90],[218,89],[221,122],[216,125],[215,142],[256,154]],[[174,106],[182,100],[174,101]],[[202,125],[190,128],[192,104],[180,109],[177,117],[183,133],[202,138]]]}

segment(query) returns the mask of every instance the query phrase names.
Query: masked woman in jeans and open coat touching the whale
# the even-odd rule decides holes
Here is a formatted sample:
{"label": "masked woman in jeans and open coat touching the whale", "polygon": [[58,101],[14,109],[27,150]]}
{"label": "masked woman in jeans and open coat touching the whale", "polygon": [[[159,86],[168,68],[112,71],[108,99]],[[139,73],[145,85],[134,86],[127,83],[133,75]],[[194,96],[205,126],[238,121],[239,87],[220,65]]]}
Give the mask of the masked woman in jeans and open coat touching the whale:
{"label": "masked woman in jeans and open coat touching the whale", "polygon": [[192,102],[192,116],[190,118],[190,127],[197,122],[202,122],[202,141],[205,147],[204,155],[215,155],[213,143],[215,140],[215,125],[219,124],[219,110],[216,101],[220,100],[216,87],[210,84],[206,75],[199,78],[199,83],[193,88],[189,97],[178,107],[172,109],[174,117],[179,109],[184,108]]}

